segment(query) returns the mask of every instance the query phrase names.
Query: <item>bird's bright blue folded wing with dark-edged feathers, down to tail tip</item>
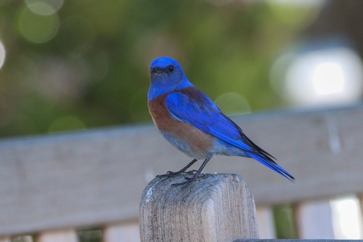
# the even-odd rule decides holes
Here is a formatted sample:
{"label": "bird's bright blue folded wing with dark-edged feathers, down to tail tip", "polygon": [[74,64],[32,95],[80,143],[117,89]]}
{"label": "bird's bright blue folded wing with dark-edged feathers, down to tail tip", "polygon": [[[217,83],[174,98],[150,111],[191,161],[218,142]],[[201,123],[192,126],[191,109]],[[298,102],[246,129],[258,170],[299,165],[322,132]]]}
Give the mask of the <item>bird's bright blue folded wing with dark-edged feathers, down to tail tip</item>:
{"label": "bird's bright blue folded wing with dark-edged feathers, down to tail tip", "polygon": [[273,156],[248,139],[241,128],[225,116],[212,100],[195,86],[189,87],[188,90],[182,89],[170,93],[165,99],[165,105],[173,118],[243,149],[250,157],[273,171],[287,179],[288,177],[294,179],[270,158]]}

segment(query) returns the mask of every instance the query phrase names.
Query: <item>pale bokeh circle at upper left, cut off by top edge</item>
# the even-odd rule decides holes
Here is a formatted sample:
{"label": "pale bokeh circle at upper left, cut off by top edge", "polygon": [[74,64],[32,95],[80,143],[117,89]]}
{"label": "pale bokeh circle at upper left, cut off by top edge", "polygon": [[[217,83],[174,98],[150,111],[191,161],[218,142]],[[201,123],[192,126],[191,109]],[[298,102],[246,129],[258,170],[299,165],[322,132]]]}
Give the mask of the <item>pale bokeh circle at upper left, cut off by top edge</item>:
{"label": "pale bokeh circle at upper left, cut off by top edge", "polygon": [[62,7],[64,0],[25,0],[25,3],[37,15],[51,15]]}

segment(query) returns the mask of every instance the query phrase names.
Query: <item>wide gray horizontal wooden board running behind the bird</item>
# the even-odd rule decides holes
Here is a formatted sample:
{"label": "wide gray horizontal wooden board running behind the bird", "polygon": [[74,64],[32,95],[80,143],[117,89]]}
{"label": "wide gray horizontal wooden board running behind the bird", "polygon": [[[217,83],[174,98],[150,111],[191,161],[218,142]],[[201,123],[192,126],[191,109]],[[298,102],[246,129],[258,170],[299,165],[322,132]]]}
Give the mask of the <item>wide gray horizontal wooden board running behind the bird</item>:
{"label": "wide gray horizontal wooden board running behind the bird", "polygon": [[[362,104],[232,119],[296,178],[252,159],[213,157],[203,171],[241,175],[256,204],[363,192]],[[4,139],[0,235],[134,220],[147,183],[189,161],[151,123]]]}

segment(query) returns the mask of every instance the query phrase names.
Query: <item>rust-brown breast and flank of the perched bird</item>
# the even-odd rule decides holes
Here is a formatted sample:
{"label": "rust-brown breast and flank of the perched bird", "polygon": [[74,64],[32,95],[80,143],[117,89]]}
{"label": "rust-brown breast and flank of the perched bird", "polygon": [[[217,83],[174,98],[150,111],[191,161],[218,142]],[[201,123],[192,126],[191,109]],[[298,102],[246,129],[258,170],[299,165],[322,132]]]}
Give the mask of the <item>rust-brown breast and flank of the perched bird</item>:
{"label": "rust-brown breast and flank of the perched bird", "polygon": [[[172,118],[164,102],[168,94],[161,95],[148,102],[149,112],[156,127],[161,133],[187,143],[192,153],[198,154],[200,157],[209,154],[214,146],[213,141],[215,137],[188,123]],[[183,151],[182,149],[180,150]],[[191,156],[188,151],[183,152]]]}

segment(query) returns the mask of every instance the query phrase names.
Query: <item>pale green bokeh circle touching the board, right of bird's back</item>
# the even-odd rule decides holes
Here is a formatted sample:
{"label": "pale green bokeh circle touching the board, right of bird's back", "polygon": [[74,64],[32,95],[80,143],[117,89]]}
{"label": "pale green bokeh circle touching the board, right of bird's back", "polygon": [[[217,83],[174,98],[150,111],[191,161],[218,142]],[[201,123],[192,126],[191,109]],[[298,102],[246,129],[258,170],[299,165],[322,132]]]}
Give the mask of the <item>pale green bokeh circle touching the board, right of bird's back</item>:
{"label": "pale green bokeh circle touching the board, right of bird's back", "polygon": [[238,93],[225,93],[220,95],[215,104],[224,114],[248,114],[251,107],[245,97]]}

